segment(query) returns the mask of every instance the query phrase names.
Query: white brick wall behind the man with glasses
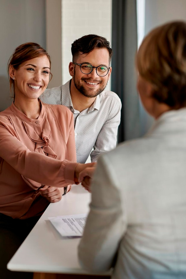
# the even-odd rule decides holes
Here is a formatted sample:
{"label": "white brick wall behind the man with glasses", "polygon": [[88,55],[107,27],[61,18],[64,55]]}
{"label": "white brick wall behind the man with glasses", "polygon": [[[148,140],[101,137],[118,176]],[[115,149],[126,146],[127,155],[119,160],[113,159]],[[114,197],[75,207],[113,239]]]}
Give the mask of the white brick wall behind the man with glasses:
{"label": "white brick wall behind the man with glasses", "polygon": [[[71,77],[71,44],[87,34],[98,34],[111,43],[112,0],[61,0],[62,3],[62,83]],[[108,82],[107,89],[110,89]]]}

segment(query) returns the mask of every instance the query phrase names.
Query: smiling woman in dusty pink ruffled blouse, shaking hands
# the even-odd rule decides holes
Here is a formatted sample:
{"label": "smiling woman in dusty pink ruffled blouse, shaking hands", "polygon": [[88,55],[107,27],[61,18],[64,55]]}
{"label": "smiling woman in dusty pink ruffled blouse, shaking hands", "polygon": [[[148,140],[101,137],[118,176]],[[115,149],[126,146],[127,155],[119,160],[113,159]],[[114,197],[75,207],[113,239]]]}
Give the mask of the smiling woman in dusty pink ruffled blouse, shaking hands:
{"label": "smiling woman in dusty pink ruffled blouse, shaking hands", "polygon": [[17,47],[8,63],[11,106],[0,113],[0,274],[1,279],[32,278],[11,272],[7,262],[50,202],[60,201],[78,182],[73,113],[43,104],[51,60],[36,43]]}

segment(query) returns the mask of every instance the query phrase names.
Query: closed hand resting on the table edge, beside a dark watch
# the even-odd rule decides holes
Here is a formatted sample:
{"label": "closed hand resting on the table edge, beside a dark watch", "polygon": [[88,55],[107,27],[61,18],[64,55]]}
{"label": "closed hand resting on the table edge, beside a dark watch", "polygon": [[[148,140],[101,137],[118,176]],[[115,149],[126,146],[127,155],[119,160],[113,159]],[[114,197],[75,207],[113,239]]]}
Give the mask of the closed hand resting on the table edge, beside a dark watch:
{"label": "closed hand resting on the table edge, beside a dark watch", "polygon": [[45,197],[49,202],[58,202],[61,200],[64,193],[63,187],[54,187],[54,186],[44,186],[39,189],[42,197]]}

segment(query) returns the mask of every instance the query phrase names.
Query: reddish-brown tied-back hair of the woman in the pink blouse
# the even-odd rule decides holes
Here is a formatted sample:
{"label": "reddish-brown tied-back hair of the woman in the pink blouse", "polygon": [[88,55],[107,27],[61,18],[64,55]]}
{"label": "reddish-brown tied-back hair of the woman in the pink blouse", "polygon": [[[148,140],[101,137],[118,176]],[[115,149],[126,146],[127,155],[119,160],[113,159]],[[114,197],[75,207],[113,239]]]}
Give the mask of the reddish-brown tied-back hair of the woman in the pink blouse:
{"label": "reddish-brown tied-back hair of the woman in the pink blouse", "polygon": [[[34,42],[24,43],[19,47],[16,47],[15,51],[13,52],[10,59],[8,60],[8,65],[7,65],[8,72],[11,66],[13,66],[14,69],[18,69],[20,64],[22,64],[23,62],[42,55],[47,55],[50,63],[50,68],[51,68],[50,55],[47,53],[47,51],[44,48],[42,48],[39,44]],[[13,97],[15,98],[15,84],[14,84],[14,80],[10,78],[10,76],[9,76],[9,82],[10,82],[10,90],[12,90],[13,87],[13,94],[14,94]]]}

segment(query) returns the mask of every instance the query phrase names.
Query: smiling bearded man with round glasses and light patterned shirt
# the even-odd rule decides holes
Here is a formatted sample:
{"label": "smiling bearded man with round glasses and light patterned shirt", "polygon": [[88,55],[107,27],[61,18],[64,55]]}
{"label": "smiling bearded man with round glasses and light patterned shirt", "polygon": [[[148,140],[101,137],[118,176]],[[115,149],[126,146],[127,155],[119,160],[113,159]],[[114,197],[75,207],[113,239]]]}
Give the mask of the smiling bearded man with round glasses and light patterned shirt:
{"label": "smiling bearded man with round glasses and light patterned shirt", "polygon": [[40,99],[47,104],[62,104],[74,114],[77,162],[91,162],[100,153],[116,147],[121,117],[121,100],[105,91],[112,68],[112,49],[104,37],[90,34],[75,40],[69,63],[72,79],[47,89]]}

